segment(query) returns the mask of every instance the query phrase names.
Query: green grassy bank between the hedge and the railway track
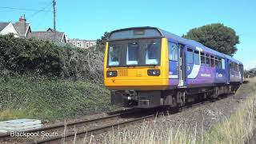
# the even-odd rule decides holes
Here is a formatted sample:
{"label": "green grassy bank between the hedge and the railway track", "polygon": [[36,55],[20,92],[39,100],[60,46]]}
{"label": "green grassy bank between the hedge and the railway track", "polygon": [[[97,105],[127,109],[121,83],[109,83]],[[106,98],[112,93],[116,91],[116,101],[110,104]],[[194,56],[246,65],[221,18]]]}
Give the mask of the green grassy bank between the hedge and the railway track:
{"label": "green grassy bank between the hedge and the railway track", "polygon": [[54,120],[112,110],[109,95],[109,90],[89,81],[1,77],[0,121],[15,118]]}

